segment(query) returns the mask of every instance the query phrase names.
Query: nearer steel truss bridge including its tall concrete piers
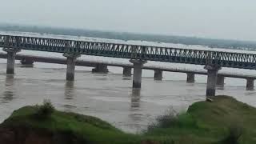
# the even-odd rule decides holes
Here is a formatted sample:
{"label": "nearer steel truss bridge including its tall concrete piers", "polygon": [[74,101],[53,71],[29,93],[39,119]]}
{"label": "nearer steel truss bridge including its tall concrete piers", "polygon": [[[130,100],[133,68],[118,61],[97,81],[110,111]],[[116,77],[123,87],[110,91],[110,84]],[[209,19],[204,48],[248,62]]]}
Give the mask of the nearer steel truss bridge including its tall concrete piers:
{"label": "nearer steel truss bridge including its tall concrete piers", "polygon": [[[143,64],[147,61],[202,65],[207,70],[206,96],[214,96],[218,70],[222,67],[256,69],[256,54],[214,50],[190,50],[161,46],[138,46],[110,42],[87,42],[58,38],[0,35],[0,47],[7,52],[7,74],[14,74],[14,60],[20,50],[62,53],[66,57],[66,80],[74,80],[76,59],[81,55],[129,58],[133,63],[133,87],[140,88]],[[161,71],[161,70],[159,70]],[[251,83],[253,81],[250,81]],[[248,84],[248,81],[247,81]]]}

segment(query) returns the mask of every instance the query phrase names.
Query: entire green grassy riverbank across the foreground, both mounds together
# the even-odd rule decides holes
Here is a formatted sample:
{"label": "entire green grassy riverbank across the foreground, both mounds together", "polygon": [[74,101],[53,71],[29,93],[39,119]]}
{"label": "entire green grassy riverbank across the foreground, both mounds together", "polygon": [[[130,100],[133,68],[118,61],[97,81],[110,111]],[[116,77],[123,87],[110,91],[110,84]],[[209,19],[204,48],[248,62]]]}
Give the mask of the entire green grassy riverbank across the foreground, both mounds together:
{"label": "entire green grassy riverbank across the foreground, both mounds together", "polygon": [[159,116],[142,134],[126,134],[99,118],[54,110],[50,102],[15,110],[0,128],[65,133],[79,139],[74,143],[256,143],[256,108],[228,96],[212,99],[195,102],[183,114]]}

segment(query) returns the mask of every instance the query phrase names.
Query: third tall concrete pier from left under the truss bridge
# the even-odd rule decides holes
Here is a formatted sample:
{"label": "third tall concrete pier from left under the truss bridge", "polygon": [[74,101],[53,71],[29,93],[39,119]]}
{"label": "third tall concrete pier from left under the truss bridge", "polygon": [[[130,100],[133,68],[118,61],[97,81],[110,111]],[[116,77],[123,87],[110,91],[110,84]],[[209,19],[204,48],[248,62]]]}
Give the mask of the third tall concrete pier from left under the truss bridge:
{"label": "third tall concrete pier from left under the truss bridge", "polygon": [[139,59],[130,59],[130,62],[134,64],[134,78],[133,78],[133,88],[142,87],[142,66],[146,61]]}

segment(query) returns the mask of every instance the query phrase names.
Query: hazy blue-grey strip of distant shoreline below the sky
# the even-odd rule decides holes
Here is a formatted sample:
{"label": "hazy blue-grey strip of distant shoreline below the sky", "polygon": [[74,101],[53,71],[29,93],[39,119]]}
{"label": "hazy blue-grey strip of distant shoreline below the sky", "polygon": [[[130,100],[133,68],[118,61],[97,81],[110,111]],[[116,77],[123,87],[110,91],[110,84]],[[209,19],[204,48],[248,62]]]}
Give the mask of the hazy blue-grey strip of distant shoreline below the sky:
{"label": "hazy blue-grey strip of distant shoreline below the sky", "polygon": [[174,44],[184,45],[200,45],[209,46],[214,48],[226,48],[235,50],[255,50],[256,42],[250,41],[238,41],[238,40],[224,40],[224,39],[211,39],[211,38],[197,38],[197,37],[185,37],[185,36],[168,36],[159,34],[132,34],[132,33],[120,33],[101,30],[82,30],[71,28],[56,28],[50,26],[22,26],[22,25],[10,25],[0,24],[0,30],[4,31],[19,31],[19,32],[31,32],[38,34],[58,34],[58,35],[70,35],[70,36],[83,36],[92,38],[108,38],[118,39],[122,41],[147,41],[147,42],[166,42]]}

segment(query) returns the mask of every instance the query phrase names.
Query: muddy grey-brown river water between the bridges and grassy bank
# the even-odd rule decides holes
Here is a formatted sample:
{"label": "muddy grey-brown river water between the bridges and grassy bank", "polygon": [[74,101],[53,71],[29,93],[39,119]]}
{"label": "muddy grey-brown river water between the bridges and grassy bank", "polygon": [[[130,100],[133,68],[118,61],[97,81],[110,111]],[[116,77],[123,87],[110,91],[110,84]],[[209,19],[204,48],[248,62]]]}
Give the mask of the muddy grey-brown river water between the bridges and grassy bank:
{"label": "muddy grey-brown river water between the bridges and grassy bank", "polygon": [[[50,99],[58,110],[93,115],[126,132],[138,133],[166,110],[185,111],[193,102],[205,99],[206,76],[196,75],[196,82],[188,84],[186,74],[164,72],[158,82],[153,70],[143,70],[142,89],[133,90],[132,79],[123,78],[121,68],[109,67],[110,74],[92,74],[90,70],[77,66],[75,81],[66,82],[65,65],[36,62],[26,67],[17,61],[16,74],[6,75],[6,60],[0,59],[0,121],[22,106]],[[217,94],[256,106],[256,92],[246,90],[246,80],[226,78],[225,82]]]}

